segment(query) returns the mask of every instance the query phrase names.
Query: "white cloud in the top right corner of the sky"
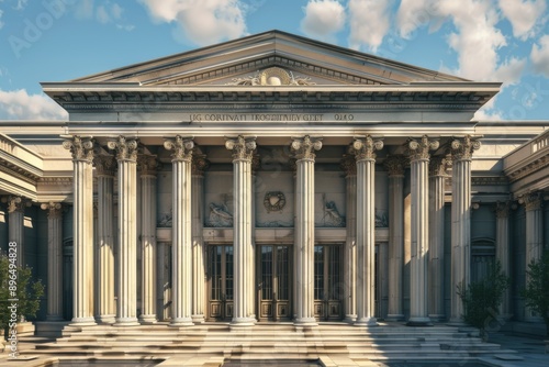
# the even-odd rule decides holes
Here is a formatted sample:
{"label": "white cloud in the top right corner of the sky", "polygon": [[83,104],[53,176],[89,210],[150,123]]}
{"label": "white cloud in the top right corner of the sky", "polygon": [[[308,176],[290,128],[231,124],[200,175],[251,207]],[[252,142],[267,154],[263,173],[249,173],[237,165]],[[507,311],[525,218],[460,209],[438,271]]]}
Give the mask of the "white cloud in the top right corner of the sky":
{"label": "white cloud in the top right corner of the sky", "polygon": [[503,15],[513,26],[513,35],[523,41],[536,35],[547,0],[500,0]]}

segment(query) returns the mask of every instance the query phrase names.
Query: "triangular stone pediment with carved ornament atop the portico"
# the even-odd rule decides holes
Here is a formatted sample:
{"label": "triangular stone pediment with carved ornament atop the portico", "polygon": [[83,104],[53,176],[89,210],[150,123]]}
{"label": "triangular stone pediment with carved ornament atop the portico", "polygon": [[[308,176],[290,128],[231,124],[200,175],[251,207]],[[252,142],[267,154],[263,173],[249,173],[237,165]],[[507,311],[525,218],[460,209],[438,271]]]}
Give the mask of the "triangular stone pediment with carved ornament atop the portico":
{"label": "triangular stone pediment with carved ornament atop the portico", "polygon": [[386,86],[466,79],[271,31],[71,81],[142,86]]}

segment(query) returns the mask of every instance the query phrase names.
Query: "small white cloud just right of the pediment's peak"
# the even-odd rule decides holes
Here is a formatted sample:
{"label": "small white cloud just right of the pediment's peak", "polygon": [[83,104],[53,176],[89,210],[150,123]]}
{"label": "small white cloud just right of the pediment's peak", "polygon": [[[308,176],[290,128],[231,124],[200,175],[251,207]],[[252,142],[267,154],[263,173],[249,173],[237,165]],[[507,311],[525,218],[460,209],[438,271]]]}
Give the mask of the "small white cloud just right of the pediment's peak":
{"label": "small white cloud just right of the pediment's peak", "polygon": [[345,25],[345,8],[337,0],[310,0],[304,11],[301,29],[309,36],[333,41]]}

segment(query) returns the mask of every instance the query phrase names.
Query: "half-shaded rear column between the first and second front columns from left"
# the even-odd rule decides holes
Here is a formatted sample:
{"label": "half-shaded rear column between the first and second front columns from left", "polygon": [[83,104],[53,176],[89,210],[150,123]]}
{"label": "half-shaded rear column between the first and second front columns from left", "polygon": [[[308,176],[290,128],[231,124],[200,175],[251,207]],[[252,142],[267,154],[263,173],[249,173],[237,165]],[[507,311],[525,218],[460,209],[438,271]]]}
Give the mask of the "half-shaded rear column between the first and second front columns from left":
{"label": "half-shaded rear column between the first and second front columns from left", "polygon": [[110,155],[94,158],[98,179],[98,321],[114,323],[114,175],[116,162]]}

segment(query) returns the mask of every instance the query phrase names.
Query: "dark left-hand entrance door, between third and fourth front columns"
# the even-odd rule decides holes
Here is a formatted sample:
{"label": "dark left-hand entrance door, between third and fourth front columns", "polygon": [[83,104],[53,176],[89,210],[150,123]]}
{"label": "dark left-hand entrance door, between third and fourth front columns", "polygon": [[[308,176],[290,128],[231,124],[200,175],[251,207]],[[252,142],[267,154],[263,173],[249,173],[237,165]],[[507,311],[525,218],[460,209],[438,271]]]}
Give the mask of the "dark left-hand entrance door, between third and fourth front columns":
{"label": "dark left-hand entrance door, between third and fourth front columns", "polygon": [[233,246],[208,246],[208,319],[233,318]]}

